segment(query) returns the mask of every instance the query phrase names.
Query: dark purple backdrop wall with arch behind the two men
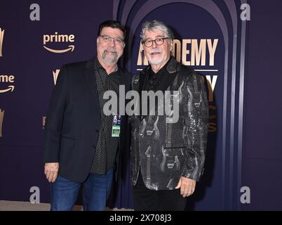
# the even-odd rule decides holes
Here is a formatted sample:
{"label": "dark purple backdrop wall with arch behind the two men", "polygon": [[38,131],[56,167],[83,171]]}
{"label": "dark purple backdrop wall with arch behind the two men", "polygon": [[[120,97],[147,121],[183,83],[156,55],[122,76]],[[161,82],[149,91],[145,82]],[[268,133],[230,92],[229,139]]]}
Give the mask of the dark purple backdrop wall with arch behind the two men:
{"label": "dark purple backdrop wall with arch behind the two men", "polygon": [[[159,19],[173,27],[180,42],[218,39],[215,65],[192,66],[203,75],[217,75],[210,101],[210,123],[217,129],[209,132],[205,174],[187,210],[282,210],[280,0],[248,1],[251,18],[243,22],[240,6],[246,1],[241,0],[40,0],[40,21],[31,21],[33,3],[13,0],[0,7],[0,200],[29,201],[32,186],[40,188],[42,203],[50,200],[41,141],[53,72],[95,55],[99,23],[114,18],[130,29],[121,64],[135,74],[144,68],[137,65],[140,25]],[[44,49],[43,35],[55,32],[73,34],[74,41],[45,46],[74,45],[74,51]],[[211,69],[217,71],[204,71]],[[13,91],[1,93],[9,86]],[[123,169],[108,205],[132,208],[128,164]],[[250,203],[241,204],[242,186],[250,188]]]}

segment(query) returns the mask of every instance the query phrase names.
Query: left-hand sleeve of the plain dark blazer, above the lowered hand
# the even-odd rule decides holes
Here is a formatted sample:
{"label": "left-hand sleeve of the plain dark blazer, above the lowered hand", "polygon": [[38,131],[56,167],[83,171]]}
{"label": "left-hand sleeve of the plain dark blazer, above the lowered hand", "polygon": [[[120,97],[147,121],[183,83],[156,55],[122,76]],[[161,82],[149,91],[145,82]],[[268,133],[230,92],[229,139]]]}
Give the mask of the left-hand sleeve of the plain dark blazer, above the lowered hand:
{"label": "left-hand sleeve of the plain dark blazer, above the lowered hand", "polygon": [[59,162],[60,137],[67,103],[67,73],[62,66],[53,89],[43,132],[43,162]]}

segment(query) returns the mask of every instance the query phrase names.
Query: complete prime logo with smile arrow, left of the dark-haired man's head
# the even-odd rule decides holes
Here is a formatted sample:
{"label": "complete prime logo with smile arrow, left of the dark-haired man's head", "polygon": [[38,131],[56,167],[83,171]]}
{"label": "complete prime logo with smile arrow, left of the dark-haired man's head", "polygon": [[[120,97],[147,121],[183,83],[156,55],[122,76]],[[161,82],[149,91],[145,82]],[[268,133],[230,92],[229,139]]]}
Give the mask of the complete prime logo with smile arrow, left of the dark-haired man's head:
{"label": "complete prime logo with smile arrow, left of the dark-haired man's head", "polygon": [[57,43],[57,42],[74,42],[74,34],[43,34],[43,47],[44,49],[51,51],[53,53],[65,53],[67,51],[74,51],[74,45],[71,44],[65,49],[53,49],[50,46],[46,46],[48,43]]}

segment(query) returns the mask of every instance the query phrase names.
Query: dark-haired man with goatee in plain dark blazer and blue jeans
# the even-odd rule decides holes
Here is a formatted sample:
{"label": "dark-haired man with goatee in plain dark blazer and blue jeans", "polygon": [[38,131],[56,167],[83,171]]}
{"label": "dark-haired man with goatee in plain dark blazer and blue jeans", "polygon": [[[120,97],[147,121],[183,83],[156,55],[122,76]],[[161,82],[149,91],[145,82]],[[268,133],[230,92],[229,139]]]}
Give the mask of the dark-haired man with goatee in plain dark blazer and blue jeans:
{"label": "dark-haired man with goatee in plain dark blazer and blue jeans", "polygon": [[[130,89],[131,75],[117,65],[125,47],[121,23],[100,24],[97,56],[63,65],[48,108],[43,139],[51,210],[72,210],[83,184],[83,210],[105,210],[125,143],[126,117],[105,115],[106,91]],[[119,103],[117,103],[119,105]],[[118,150],[119,148],[119,150]]]}

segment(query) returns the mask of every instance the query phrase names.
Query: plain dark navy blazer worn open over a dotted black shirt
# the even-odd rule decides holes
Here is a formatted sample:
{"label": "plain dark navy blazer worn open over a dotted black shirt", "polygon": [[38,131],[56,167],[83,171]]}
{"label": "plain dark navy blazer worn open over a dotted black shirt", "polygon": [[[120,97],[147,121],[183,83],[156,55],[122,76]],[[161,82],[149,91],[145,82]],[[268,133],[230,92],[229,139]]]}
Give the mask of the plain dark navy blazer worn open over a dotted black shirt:
{"label": "plain dark navy blazer worn open over a dotted black shirt", "polygon": [[[94,59],[62,66],[43,136],[43,162],[59,162],[59,175],[77,182],[85,181],[90,172],[100,129]],[[121,84],[128,91],[131,75],[121,68],[119,71]],[[121,117],[119,143],[125,143],[126,120],[126,116]],[[119,148],[123,148],[121,144]],[[116,162],[119,155],[118,150]]]}

